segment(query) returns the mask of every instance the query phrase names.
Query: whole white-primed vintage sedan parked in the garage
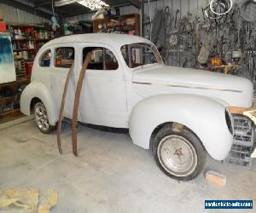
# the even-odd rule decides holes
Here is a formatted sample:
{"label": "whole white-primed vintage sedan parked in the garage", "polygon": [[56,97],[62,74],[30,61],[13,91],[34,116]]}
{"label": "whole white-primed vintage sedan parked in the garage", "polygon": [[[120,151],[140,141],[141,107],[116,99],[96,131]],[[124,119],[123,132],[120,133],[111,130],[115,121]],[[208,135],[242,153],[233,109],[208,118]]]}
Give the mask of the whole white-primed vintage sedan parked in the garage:
{"label": "whole white-primed vintage sedan parked in the garage", "polygon": [[58,122],[67,72],[73,64],[63,116],[72,118],[76,84],[90,53],[79,102],[79,122],[129,129],[134,144],[151,149],[166,175],[188,181],[207,153],[223,160],[233,140],[230,107],[253,106],[246,78],[165,66],[143,37],[84,34],[56,38],[38,51],[21,112],[35,113],[39,130]]}

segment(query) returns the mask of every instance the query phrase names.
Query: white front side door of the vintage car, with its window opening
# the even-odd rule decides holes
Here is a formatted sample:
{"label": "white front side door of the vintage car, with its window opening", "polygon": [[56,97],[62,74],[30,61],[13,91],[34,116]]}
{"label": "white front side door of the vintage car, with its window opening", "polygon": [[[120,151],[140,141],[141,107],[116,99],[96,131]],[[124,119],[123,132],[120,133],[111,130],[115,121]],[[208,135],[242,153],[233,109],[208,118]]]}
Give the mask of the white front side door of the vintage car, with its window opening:
{"label": "white front side door of the vintage car, with its window opening", "polygon": [[80,48],[79,70],[88,53],[91,56],[80,99],[84,123],[126,128],[125,73],[118,55],[108,45],[84,45]]}

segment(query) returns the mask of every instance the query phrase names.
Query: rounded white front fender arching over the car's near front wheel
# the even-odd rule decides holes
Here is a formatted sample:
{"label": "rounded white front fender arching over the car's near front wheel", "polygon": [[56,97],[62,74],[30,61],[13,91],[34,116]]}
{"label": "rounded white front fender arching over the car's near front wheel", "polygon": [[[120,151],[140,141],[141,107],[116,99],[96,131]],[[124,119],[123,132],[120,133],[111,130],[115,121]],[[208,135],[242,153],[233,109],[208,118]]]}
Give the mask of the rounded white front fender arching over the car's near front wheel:
{"label": "rounded white front fender arching over the car's near front wheel", "polygon": [[226,123],[225,107],[199,95],[155,95],[137,103],[129,120],[133,143],[148,149],[155,128],[168,122],[192,130],[212,158],[223,160],[230,152],[233,135]]}

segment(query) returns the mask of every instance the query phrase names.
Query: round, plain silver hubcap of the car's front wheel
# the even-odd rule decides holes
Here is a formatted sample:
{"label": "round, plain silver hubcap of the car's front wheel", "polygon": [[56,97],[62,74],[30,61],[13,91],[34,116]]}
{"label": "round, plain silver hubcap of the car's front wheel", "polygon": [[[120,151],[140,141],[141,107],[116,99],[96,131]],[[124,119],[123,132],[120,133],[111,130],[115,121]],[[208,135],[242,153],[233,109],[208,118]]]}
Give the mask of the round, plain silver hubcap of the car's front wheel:
{"label": "round, plain silver hubcap of the car's front wheel", "polygon": [[163,168],[173,176],[189,176],[196,167],[197,154],[191,143],[179,135],[163,138],[157,148]]}

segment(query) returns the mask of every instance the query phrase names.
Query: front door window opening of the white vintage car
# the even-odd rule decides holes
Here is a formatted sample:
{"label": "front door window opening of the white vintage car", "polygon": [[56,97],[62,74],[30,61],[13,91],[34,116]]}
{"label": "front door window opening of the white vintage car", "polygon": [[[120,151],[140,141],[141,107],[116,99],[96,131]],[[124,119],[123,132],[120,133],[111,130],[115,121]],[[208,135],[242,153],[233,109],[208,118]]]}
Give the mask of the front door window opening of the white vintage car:
{"label": "front door window opening of the white vintage car", "polygon": [[90,70],[116,70],[119,67],[118,61],[109,49],[88,47],[83,49],[83,62],[85,56],[90,53],[88,69]]}

